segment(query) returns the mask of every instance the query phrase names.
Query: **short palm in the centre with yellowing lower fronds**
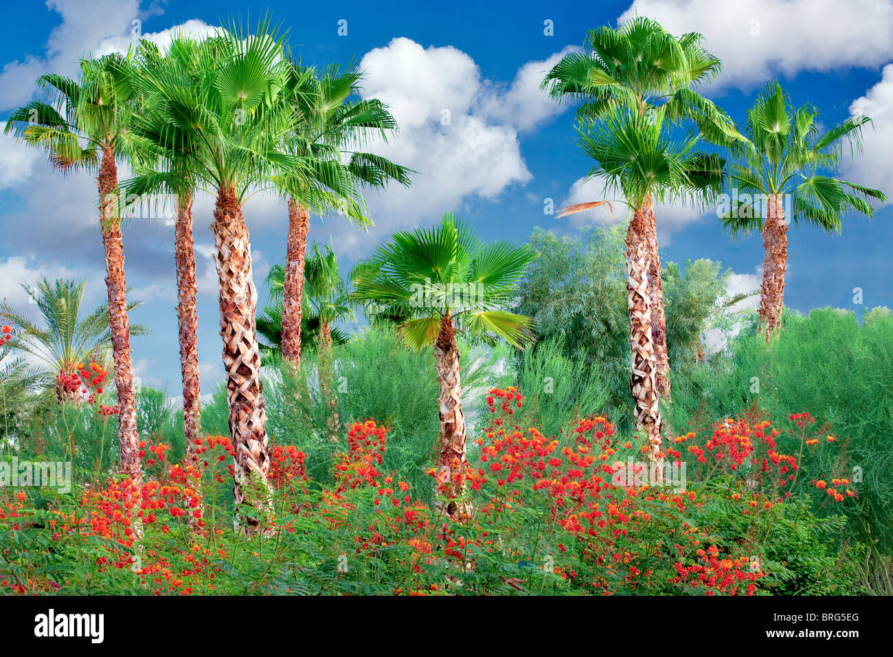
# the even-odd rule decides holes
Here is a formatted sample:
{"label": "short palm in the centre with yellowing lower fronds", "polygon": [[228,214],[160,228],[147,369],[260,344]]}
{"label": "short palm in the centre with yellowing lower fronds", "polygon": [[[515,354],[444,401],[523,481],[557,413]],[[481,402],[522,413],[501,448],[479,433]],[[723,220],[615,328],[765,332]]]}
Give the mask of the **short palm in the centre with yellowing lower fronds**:
{"label": "short palm in the centre with yellowing lower fronds", "polygon": [[[499,309],[513,299],[515,283],[535,257],[528,246],[480,244],[471,229],[444,215],[430,230],[397,232],[351,274],[359,301],[396,307],[411,317],[400,327],[405,343],[434,346],[440,384],[438,465],[449,496],[459,493],[455,476],[465,463],[465,418],[459,377],[457,331],[490,344],[498,339],[521,348],[530,318]],[[451,516],[455,502],[447,505]]]}

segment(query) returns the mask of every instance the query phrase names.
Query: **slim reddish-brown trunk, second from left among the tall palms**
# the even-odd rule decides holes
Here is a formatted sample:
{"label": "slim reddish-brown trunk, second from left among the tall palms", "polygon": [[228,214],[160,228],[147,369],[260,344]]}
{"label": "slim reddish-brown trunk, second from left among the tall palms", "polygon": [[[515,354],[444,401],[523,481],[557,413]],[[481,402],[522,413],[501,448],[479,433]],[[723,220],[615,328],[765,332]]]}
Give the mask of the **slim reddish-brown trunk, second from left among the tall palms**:
{"label": "slim reddish-brown trunk, second from left among the tall palms", "polygon": [[198,311],[196,309],[196,251],[192,239],[192,196],[179,198],[174,259],[177,264],[177,322],[179,366],[183,375],[183,436],[188,457],[201,434],[202,385],[198,375]]}

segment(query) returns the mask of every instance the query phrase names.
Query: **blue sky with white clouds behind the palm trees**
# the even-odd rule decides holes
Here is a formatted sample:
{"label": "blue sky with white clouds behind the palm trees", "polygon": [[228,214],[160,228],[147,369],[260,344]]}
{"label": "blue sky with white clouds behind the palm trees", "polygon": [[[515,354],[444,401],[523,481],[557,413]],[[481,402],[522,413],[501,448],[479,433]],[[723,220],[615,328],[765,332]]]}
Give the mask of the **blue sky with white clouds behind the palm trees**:
{"label": "blue sky with white clouds behind the palm trees", "polygon": [[[447,211],[470,220],[488,239],[527,240],[534,226],[573,232],[572,222],[544,214],[555,207],[594,200],[598,190],[580,179],[590,163],[574,145],[572,112],[548,101],[538,80],[562,53],[579,47],[587,29],[654,17],[673,33],[699,31],[719,55],[724,72],[703,89],[737,121],[766,80],[778,78],[797,105],[810,102],[826,127],[851,114],[869,114],[874,129],[864,153],[847,161],[850,179],[893,191],[893,2],[841,4],[831,0],[647,0],[647,2],[451,2],[255,4],[180,1],[50,0],[35,3],[28,21],[7,21],[0,39],[0,122],[29,100],[42,72],[71,74],[80,55],[126,50],[138,31],[164,43],[171,29],[210,32],[233,16],[252,20],[269,11],[288,29],[288,43],[306,63],[361,63],[364,96],[391,105],[401,124],[398,138],[381,152],[419,171],[410,190],[369,198],[376,226],[368,234],[338,217],[313,218],[311,240],[331,242],[342,267],[363,257],[396,229],[434,223]],[[135,22],[137,21],[137,22]],[[339,36],[338,29],[346,35]],[[547,34],[551,21],[551,34]],[[441,118],[448,110],[448,125]],[[122,172],[122,175],[126,174]],[[11,138],[0,138],[0,297],[27,306],[18,283],[40,274],[88,277],[88,302],[104,298],[102,245],[96,222],[96,186],[85,174],[62,179],[43,156]],[[196,201],[199,268],[199,352],[203,391],[221,379],[216,274],[210,198]],[[800,227],[789,233],[786,302],[808,311],[843,307],[861,312],[853,289],[868,307],[893,306],[889,281],[893,223],[889,206],[872,222],[848,217],[843,234]],[[287,215],[276,198],[255,197],[246,206],[262,287],[270,265],[285,255]],[[715,213],[659,207],[662,257],[684,262],[709,257],[734,270],[733,291],[758,287],[763,252],[759,237],[731,242]],[[148,337],[133,340],[144,383],[179,386],[174,307],[173,228],[164,221],[129,226],[124,248],[134,297],[146,301],[132,321]]]}

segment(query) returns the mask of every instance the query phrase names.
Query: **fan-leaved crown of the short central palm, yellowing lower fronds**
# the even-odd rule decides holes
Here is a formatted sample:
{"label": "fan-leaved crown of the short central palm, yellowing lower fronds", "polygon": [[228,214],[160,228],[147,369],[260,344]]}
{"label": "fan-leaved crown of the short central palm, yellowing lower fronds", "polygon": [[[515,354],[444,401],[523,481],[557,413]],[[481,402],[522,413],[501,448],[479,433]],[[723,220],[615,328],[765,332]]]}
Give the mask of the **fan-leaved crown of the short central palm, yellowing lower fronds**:
{"label": "fan-leaved crown of the short central palm, yellowing lower fronds", "polygon": [[445,318],[488,343],[499,337],[520,347],[530,318],[499,308],[511,304],[514,284],[534,257],[526,245],[482,245],[447,214],[437,227],[395,233],[357,265],[353,297],[409,317],[401,333],[415,349],[435,341]]}

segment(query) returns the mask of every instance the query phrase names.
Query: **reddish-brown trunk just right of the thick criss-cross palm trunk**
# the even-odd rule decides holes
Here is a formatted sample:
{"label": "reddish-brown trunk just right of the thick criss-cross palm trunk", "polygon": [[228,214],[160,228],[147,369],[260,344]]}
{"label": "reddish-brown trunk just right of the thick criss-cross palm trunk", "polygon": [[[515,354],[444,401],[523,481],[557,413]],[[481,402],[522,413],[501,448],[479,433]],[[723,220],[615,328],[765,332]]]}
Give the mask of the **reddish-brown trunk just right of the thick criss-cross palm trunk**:
{"label": "reddish-brown trunk just right of the thick criss-cross palm trunk", "polygon": [[304,257],[310,212],[288,199],[288,241],[282,302],[282,358],[295,366],[301,362],[301,318],[304,296]]}

